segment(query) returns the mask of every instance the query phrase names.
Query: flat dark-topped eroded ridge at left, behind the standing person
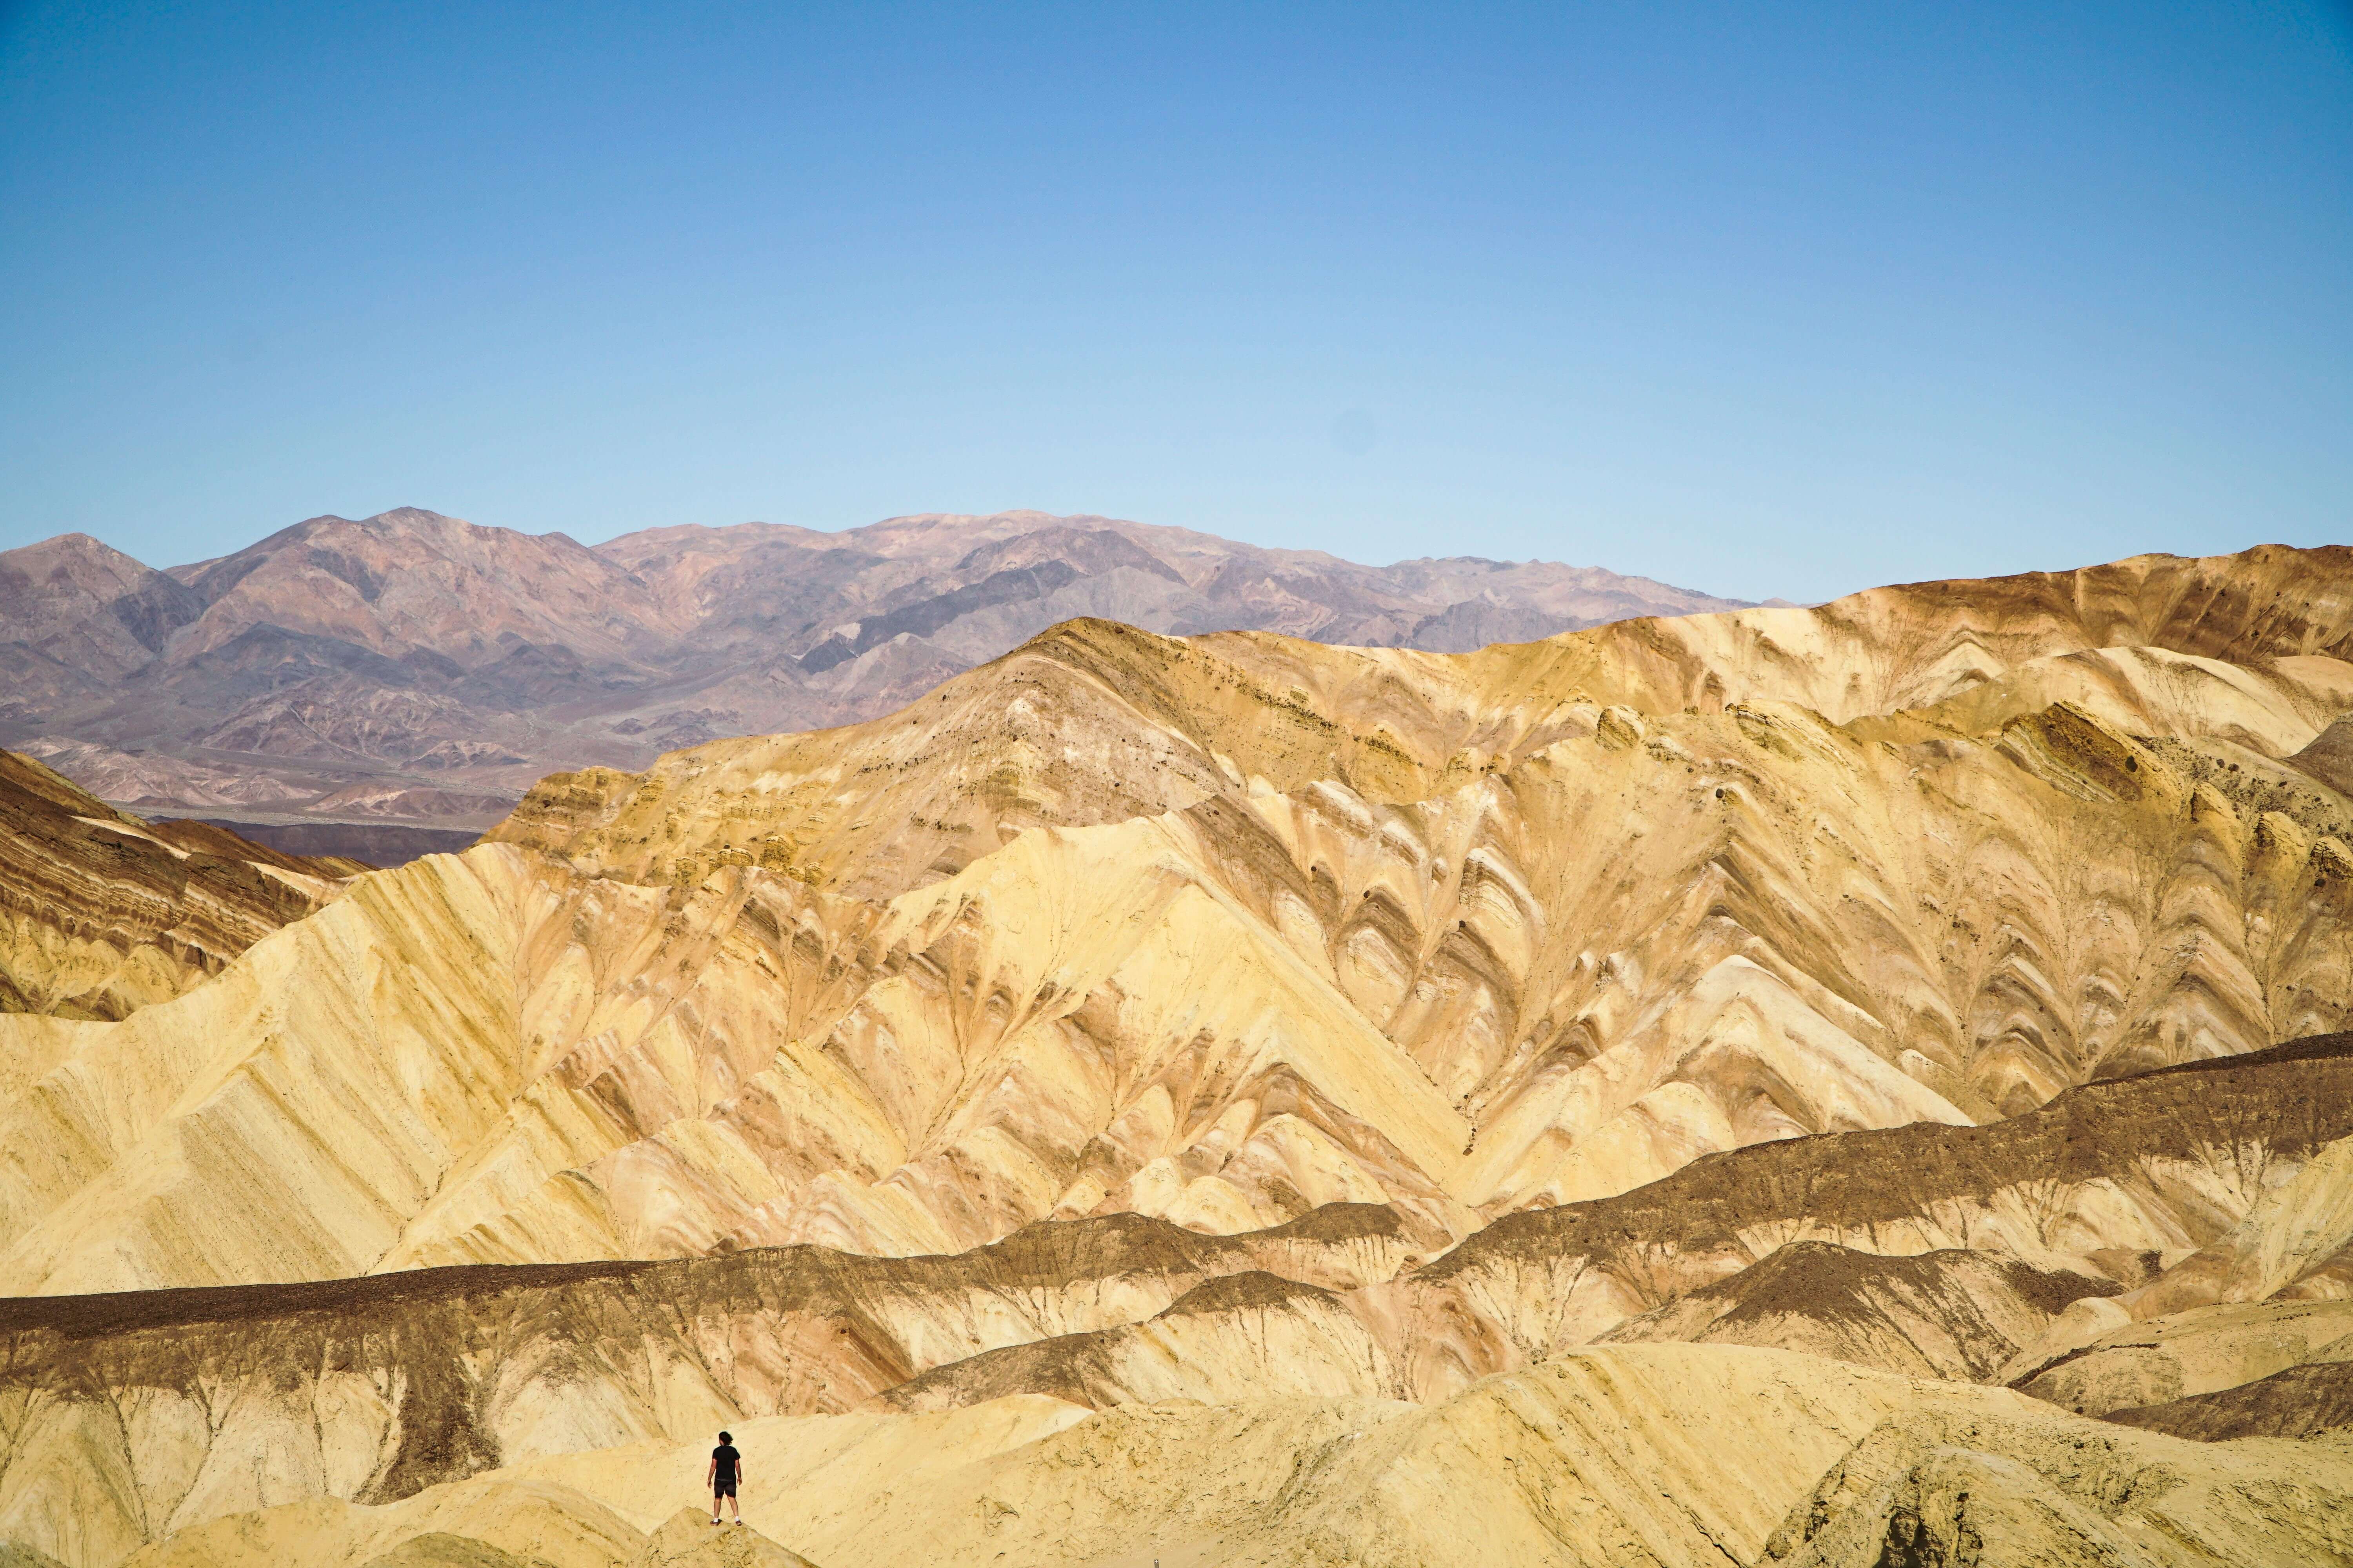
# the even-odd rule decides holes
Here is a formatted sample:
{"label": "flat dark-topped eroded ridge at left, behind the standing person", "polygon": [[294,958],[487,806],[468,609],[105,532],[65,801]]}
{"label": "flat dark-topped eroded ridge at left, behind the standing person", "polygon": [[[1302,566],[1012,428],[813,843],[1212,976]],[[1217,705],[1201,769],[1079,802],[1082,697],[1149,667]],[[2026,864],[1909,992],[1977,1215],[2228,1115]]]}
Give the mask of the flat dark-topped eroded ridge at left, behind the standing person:
{"label": "flat dark-topped eroded ridge at left, behind the standing person", "polygon": [[[1233,1274],[1282,1269],[1322,1298],[1393,1274],[1407,1246],[1388,1211],[1327,1208],[1231,1241],[1115,1215],[960,1258],[791,1248],[16,1302],[0,1335],[0,1540],[111,1561],[315,1495],[402,1500],[633,1441],[708,1448],[748,1418],[849,1410],[944,1363],[1136,1324]],[[24,1326],[28,1307],[45,1328]],[[1304,1368],[1322,1378],[1304,1387],[1355,1387],[1297,1340],[1257,1361],[1275,1387]]]}

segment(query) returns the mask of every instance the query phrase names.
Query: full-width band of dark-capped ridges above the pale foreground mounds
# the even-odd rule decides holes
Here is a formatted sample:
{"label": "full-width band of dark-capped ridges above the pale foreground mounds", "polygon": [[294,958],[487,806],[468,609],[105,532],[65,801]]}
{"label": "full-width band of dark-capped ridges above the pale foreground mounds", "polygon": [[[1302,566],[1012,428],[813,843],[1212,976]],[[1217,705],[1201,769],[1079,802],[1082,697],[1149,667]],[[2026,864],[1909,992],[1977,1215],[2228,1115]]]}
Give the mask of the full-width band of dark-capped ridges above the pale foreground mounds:
{"label": "full-width band of dark-capped ridges above the pale foreground mounds", "polygon": [[[1991,1128],[1767,1143],[1501,1220],[1440,1258],[1391,1208],[1325,1206],[1238,1237],[1136,1215],[1038,1225],[951,1258],[781,1248],[21,1298],[0,1307],[16,1455],[0,1533],[68,1497],[89,1521],[118,1509],[108,1540],[315,1495],[388,1505],[562,1455],[861,1408],[1442,1408],[1591,1340],[1986,1378],[2068,1312],[2162,1281],[2200,1232],[2231,1234],[2233,1206],[2294,1187],[2346,1117],[2353,1044],[2339,1037],[2078,1088]],[[2264,1347],[2289,1324],[2268,1312],[2268,1333],[2212,1314],[2162,1333],[2181,1366],[2207,1368],[2174,1389],[2271,1371]],[[2332,1314],[2304,1309],[2304,1359]],[[2026,1408],[2057,1413],[2068,1366],[2113,1382],[2101,1356],[2127,1352],[2024,1385]],[[92,1474],[115,1476],[108,1497],[125,1502],[78,1493]]]}

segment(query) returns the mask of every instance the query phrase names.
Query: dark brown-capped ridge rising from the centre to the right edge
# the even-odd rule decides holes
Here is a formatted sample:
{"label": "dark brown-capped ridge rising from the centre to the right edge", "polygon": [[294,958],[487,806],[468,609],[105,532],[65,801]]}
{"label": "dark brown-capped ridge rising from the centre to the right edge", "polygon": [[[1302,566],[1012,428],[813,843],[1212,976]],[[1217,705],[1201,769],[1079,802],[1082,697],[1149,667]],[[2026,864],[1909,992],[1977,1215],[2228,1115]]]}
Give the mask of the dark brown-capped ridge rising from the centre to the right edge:
{"label": "dark brown-capped ridge rising from the centre to the right edge", "polygon": [[[1398,1338],[1409,1338],[1409,1387],[1424,1396],[1541,1361],[1628,1319],[1640,1324],[1635,1338],[1675,1328],[1704,1338],[1713,1305],[1748,1291],[1779,1319],[1772,1338],[1751,1342],[1847,1345],[1866,1361],[1906,1366],[1911,1352],[1897,1349],[1901,1333],[1889,1321],[1901,1312],[1955,1340],[1927,1363],[1993,1375],[1998,1342],[2019,1342],[2017,1333],[2035,1326],[2024,1305],[2045,1321],[2094,1309],[2111,1312],[2108,1324],[2125,1319],[2115,1302],[2200,1272],[2205,1246],[2266,1213],[2299,1175],[2332,1168],[2348,1135],[2353,1037],[2339,1034],[2089,1084],[1991,1126],[1915,1124],[1713,1154],[1624,1197],[1501,1218],[1374,1295],[1388,1298],[1388,1316],[1417,1328]],[[1805,1260],[1774,1267],[1791,1244],[1913,1262],[1845,1260],[1845,1281],[1774,1302],[1765,1286]],[[2017,1300],[1934,1281],[1958,1262],[1937,1262],[1948,1248],[1998,1253]],[[1744,1279],[1760,1265],[1762,1274]],[[2327,1248],[2304,1262],[2306,1272],[2334,1267]],[[1908,1291],[1899,1286],[1906,1276]],[[2101,1288],[2101,1279],[2118,1288]],[[1704,1288],[1718,1295],[1661,1312]],[[1880,1298],[1878,1326],[1854,1321],[1857,1291]],[[1993,1338],[1972,1321],[1988,1307]],[[1974,1352],[1962,1349],[1972,1340]],[[2019,1354],[2033,1345],[2021,1342]]]}

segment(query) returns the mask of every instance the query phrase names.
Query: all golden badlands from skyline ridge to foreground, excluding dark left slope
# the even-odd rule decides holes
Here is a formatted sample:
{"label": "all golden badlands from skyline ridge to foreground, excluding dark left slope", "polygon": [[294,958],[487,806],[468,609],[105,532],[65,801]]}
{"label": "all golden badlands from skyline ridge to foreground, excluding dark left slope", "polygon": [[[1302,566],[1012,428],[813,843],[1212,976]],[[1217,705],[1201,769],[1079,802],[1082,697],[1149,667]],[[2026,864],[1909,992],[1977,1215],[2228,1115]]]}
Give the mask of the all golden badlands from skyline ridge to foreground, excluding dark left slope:
{"label": "all golden badlands from skyline ridge to foreground, excluding dark left slope", "polygon": [[725,1425],[812,1563],[2348,1559],[2348,578],[1073,621],[548,778],[0,1016],[0,1540],[664,1561]]}

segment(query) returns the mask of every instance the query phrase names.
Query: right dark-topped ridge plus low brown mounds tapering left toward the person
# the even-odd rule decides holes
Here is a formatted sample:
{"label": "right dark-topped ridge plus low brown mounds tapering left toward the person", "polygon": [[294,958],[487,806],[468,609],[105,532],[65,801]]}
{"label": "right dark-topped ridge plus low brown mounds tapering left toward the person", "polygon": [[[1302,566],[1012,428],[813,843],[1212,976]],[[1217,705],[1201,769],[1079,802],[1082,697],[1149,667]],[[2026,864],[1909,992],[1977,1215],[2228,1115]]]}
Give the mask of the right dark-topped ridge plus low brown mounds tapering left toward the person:
{"label": "right dark-topped ridge plus low brown mounds tapering left toward the person", "polygon": [[[904,1410],[1007,1394],[1108,1406],[1355,1392],[1440,1399],[1579,1345],[1760,1345],[1911,1375],[1995,1380],[2049,1359],[2080,1314],[2193,1267],[2191,1244],[2261,1213],[2264,1194],[2325,1168],[2348,1117],[2346,1039],[2061,1095],[1993,1128],[1904,1128],[1767,1143],[1617,1199],[1489,1225],[1386,1284],[1212,1281],[1148,1321],[993,1349],[887,1389]],[[2306,1105],[2327,1103],[2320,1124]],[[2294,1107],[2294,1110],[2289,1110]],[[1922,1180],[1927,1178],[1927,1180]],[[1960,1246],[1967,1244],[1967,1246]],[[2320,1359],[2334,1305],[2198,1314],[2146,1333],[2200,1345],[2200,1389]],[[2304,1314],[2297,1319],[2297,1314]],[[2097,1314],[2106,1314],[2099,1319]],[[2301,1321],[2301,1333],[2289,1328]],[[2294,1349],[2304,1347],[2304,1349]],[[2184,1392],[2146,1373],[2139,1340],[2061,1356],[2019,1387],[2104,1413]],[[2106,1387],[2094,1403],[2068,1389]]]}

